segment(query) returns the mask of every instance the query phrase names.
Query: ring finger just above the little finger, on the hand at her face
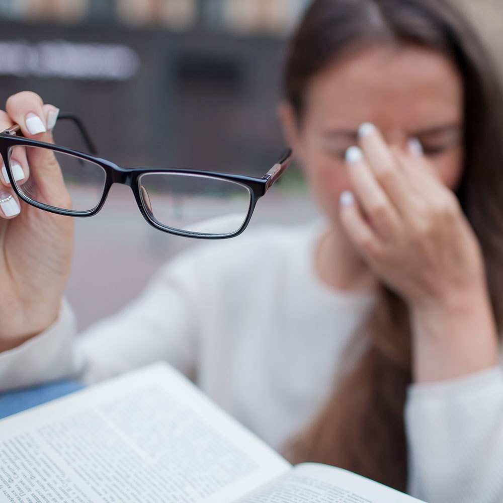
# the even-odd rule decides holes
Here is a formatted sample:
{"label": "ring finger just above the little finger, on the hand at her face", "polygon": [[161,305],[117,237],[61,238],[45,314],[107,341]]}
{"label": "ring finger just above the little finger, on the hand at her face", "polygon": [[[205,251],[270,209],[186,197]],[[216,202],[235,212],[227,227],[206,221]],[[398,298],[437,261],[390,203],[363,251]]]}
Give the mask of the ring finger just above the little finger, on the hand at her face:
{"label": "ring finger just above the little finger, on the hand at her face", "polygon": [[356,198],[372,227],[382,237],[393,235],[398,225],[398,214],[370,170],[362,150],[350,147],[346,152],[346,162]]}

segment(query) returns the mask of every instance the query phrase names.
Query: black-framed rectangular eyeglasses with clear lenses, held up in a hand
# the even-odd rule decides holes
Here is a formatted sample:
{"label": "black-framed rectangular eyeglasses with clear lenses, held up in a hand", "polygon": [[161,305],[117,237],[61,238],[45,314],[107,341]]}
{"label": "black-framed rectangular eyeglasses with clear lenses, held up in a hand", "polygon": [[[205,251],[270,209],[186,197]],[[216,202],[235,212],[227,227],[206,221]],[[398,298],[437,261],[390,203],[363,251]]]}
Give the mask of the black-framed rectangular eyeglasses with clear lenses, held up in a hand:
{"label": "black-framed rectangular eyeglasses with clear lenses, held up in a hand", "polygon": [[[292,157],[286,149],[262,178],[172,167],[126,168],[96,155],[76,116],[59,114],[58,122],[61,119],[77,126],[93,155],[25,138],[19,125],[0,133],[0,154],[21,200],[59,215],[89,217],[103,207],[112,184],[124,184],[131,187],[150,225],[188,237],[222,239],[240,234],[258,199],[279,179]],[[20,166],[25,178],[16,180]]]}

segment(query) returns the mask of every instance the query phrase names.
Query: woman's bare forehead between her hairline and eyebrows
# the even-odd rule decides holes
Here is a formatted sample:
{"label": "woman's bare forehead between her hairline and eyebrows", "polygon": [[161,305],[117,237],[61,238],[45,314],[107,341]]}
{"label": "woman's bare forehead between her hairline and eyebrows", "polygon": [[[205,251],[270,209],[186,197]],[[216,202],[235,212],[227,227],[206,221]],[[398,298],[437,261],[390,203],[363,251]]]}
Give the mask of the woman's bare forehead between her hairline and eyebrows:
{"label": "woman's bare forehead between her hairline and eyebrows", "polygon": [[462,82],[450,60],[420,47],[372,48],[316,74],[306,119],[326,127],[422,128],[462,117]]}

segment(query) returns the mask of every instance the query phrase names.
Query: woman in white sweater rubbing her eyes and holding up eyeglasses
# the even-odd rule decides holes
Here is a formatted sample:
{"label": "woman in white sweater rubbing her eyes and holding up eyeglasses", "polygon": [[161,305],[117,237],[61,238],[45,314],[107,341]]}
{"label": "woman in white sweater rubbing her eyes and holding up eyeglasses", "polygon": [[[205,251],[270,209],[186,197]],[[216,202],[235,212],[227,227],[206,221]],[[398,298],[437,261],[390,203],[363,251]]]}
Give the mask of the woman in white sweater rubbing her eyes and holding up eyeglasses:
{"label": "woman in white sweater rubbing her eyes and holding up eyeglasses", "polygon": [[[502,110],[444,2],[316,0],[280,115],[325,220],[193,249],[74,343],[71,222],[11,208],[3,389],[165,359],[295,461],[431,502],[502,499]],[[50,111],[21,93],[1,127],[50,141]]]}

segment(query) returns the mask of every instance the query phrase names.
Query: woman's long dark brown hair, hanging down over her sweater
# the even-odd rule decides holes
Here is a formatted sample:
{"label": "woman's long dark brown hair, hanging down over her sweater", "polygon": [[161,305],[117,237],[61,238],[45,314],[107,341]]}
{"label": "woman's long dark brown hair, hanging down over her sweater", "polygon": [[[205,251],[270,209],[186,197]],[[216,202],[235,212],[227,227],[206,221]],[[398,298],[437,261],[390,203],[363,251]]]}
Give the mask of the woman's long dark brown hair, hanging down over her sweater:
{"label": "woman's long dark brown hair, hanging down over her sweater", "polygon": [[[415,45],[447,56],[464,87],[465,165],[456,191],[482,247],[498,328],[503,325],[503,93],[478,37],[446,0],[315,0],[291,39],[284,95],[300,122],[310,79],[376,44]],[[411,382],[405,302],[381,287],[359,330],[365,351],[316,421],[287,448],[294,462],[347,468],[400,490],[407,482],[403,409]]]}

